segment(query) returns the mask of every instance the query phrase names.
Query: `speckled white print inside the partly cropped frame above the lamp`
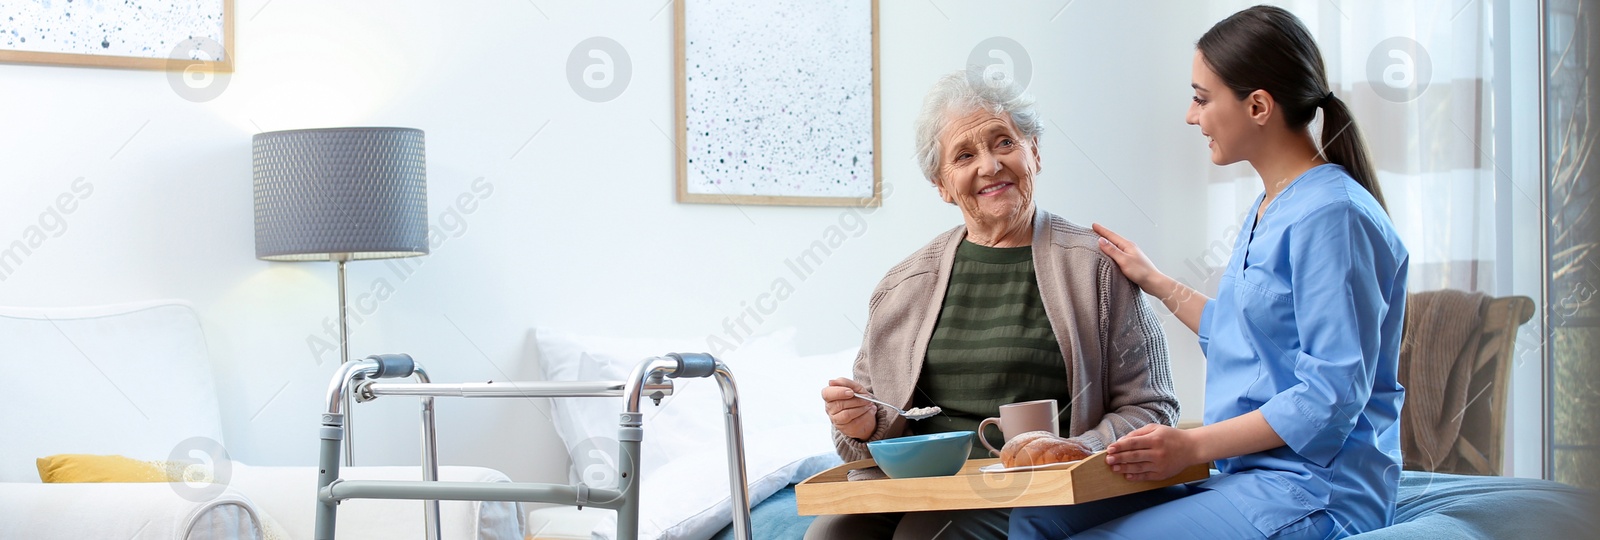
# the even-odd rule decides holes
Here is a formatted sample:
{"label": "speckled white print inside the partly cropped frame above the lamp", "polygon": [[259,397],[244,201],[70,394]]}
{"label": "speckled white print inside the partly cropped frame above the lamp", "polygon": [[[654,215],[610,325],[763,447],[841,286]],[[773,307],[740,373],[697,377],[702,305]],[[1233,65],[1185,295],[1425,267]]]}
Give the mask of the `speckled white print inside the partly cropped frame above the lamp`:
{"label": "speckled white print inside the partly cropped frame above the lamp", "polygon": [[222,2],[5,0],[0,2],[0,48],[170,58],[178,43],[190,37],[222,43]]}

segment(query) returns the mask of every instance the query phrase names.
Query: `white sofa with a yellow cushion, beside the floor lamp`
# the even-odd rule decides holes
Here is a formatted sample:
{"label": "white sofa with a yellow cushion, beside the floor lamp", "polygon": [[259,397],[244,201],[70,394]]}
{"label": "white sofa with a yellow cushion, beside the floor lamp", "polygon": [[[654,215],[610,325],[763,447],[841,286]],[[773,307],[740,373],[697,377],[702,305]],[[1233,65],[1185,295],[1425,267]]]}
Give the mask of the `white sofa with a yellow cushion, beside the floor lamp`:
{"label": "white sofa with a yellow cushion, beside the floor lamp", "polygon": [[[35,459],[45,455],[166,460],[227,447],[205,334],[187,304],[0,308],[0,538],[312,537],[314,467],[222,460],[216,484],[40,482]],[[342,476],[419,474],[357,467]],[[442,467],[440,479],[509,481],[475,467]],[[354,500],[339,506],[338,534],[421,538],[421,521],[419,502]],[[522,521],[514,503],[442,505],[445,538],[522,538]]]}

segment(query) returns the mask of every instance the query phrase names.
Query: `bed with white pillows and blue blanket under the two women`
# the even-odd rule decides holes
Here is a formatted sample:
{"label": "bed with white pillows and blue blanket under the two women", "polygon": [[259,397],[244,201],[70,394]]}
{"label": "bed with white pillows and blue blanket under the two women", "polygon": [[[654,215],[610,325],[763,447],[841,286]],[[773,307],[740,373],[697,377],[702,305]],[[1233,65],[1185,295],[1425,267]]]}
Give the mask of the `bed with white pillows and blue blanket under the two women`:
{"label": "bed with white pillows and blue blanket under the two women", "polygon": [[[813,518],[795,510],[794,482],[838,463],[827,439],[826,417],[816,414],[816,388],[827,379],[848,372],[853,350],[832,355],[803,356],[794,350],[792,334],[752,339],[730,353],[730,364],[739,375],[741,396],[747,396],[746,443],[750,459],[755,538],[802,538]],[[547,380],[566,377],[605,379],[608,358],[614,363],[640,358],[642,351],[683,348],[683,343],[661,343],[619,339],[563,336],[542,329],[534,340]],[[693,342],[690,343],[693,345]],[[742,356],[742,358],[741,358]],[[699,388],[707,390],[707,388]],[[690,417],[675,419],[674,409],[707,409],[696,404],[694,388],[674,399],[675,406],[653,419],[656,430],[646,441],[662,443],[651,457],[674,457],[645,478],[646,526],[642,537],[661,538],[733,538],[731,511],[722,478],[701,478],[715,471],[717,463],[699,462],[693,447],[720,447],[718,427],[696,427]],[[813,406],[805,406],[811,403]],[[802,404],[802,406],[795,406]],[[610,428],[614,412],[584,412],[568,403],[554,407],[557,431],[568,443],[573,478],[594,476],[595,463],[581,457],[590,454],[581,441],[598,433],[584,428]],[[771,439],[784,444],[763,444]],[[613,443],[614,444],[614,443]],[[717,465],[717,467],[714,467]],[[646,468],[650,465],[646,463]],[[600,474],[603,476],[603,474]],[[698,479],[698,481],[696,481]],[[654,497],[651,497],[654,494]],[[1400,476],[1395,524],[1357,538],[1581,538],[1600,530],[1600,495],[1594,490],[1558,482],[1504,476],[1469,476],[1451,473],[1405,471]],[[656,511],[651,514],[651,511]],[[605,513],[571,508],[544,508],[528,516],[528,538],[589,538],[594,532],[610,538],[614,518]]]}

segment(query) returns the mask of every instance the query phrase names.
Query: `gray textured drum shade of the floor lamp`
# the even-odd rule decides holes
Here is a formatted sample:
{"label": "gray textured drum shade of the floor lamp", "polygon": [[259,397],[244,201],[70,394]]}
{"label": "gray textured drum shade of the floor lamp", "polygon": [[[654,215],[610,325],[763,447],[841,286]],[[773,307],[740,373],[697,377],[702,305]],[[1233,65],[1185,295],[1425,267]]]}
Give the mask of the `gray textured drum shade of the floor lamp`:
{"label": "gray textured drum shade of the floor lamp", "polygon": [[253,147],[256,259],[427,254],[422,129],[269,131]]}

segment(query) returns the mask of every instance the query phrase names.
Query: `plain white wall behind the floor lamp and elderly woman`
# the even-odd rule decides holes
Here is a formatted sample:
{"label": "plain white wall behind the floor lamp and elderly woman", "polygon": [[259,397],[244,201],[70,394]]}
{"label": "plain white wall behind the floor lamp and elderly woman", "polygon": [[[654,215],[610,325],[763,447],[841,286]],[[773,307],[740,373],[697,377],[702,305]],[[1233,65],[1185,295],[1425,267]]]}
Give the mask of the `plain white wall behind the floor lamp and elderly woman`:
{"label": "plain white wall behind the floor lamp and elderly woman", "polygon": [[[923,91],[973,46],[1010,37],[1032,59],[1048,118],[1042,208],[1104,222],[1162,265],[1202,251],[1205,147],[1182,123],[1203,6],[1160,2],[882,5],[883,181],[867,217],[758,331],[797,326],[803,350],[858,343],[882,273],[958,222],[912,163]],[[672,10],[659,0],[240,0],[237,72],[189,102],[168,73],[0,66],[0,243],[22,238],[72,181],[93,185],[5,281],[5,305],[194,302],[224,391],[227,446],[251,463],[314,462],[315,411],[336,355],[315,358],[334,312],[331,264],[254,259],[250,136],[394,125],[427,131],[435,224],[482,179],[493,192],[440,224],[453,233],[400,280],[350,264],[352,294],[395,292],[352,329],[352,353],[410,351],[435,380],[526,379],[528,331],[723,334],[794,257],[846,212],[674,203]],[[565,78],[587,37],[621,42],[634,72],[595,104]],[[782,59],[771,59],[781,62]],[[1059,126],[1059,128],[1058,128]],[[542,128],[542,129],[541,129]],[[536,134],[536,136],[534,136]],[[530,141],[531,137],[531,141]],[[370,305],[370,304],[368,304]],[[1184,415],[1198,419],[1194,337],[1168,316]],[[814,407],[814,403],[797,404]],[[358,406],[358,462],[414,463],[414,404]],[[533,401],[442,401],[442,459],[565,481]]]}

